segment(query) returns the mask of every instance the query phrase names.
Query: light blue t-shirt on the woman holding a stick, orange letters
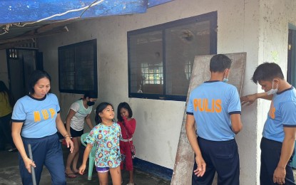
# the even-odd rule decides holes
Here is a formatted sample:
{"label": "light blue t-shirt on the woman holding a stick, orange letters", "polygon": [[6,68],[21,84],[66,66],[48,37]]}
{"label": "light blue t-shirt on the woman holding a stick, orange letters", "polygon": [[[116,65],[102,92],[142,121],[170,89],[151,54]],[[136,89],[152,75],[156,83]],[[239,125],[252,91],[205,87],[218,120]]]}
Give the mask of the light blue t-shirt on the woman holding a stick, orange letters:
{"label": "light blue t-shirt on the woman holding a stick, orange letters", "polygon": [[57,132],[56,116],[59,111],[58,98],[54,94],[49,93],[42,99],[26,95],[14,105],[11,120],[24,122],[22,137],[41,138]]}

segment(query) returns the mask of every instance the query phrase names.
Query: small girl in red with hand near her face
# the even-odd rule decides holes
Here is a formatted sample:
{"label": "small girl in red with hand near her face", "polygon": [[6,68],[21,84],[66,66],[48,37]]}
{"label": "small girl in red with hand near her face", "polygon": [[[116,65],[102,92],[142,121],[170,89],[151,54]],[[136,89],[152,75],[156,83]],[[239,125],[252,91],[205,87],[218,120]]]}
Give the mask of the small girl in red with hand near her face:
{"label": "small girl in red with hand near her face", "polygon": [[[130,174],[130,179],[127,185],[134,185],[131,147],[133,146],[133,133],[136,130],[136,120],[132,118],[132,116],[133,111],[131,110],[130,105],[128,105],[127,102],[121,102],[117,108],[117,123],[121,125],[121,154],[126,155],[126,170],[129,171]],[[123,162],[121,162],[121,169],[123,169]]]}

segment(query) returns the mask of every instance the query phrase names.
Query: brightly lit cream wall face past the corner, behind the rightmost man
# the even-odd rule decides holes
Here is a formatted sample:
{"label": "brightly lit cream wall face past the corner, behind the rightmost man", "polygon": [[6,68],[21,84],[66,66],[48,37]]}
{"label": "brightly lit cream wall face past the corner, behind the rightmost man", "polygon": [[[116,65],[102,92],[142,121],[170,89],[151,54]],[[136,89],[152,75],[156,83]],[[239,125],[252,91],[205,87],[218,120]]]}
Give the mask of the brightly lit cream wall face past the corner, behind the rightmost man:
{"label": "brightly lit cream wall face past the corner, behind the rightmost man", "polygon": [[[296,1],[292,0],[260,1],[258,64],[263,62],[277,63],[282,68],[285,78],[287,77],[288,25],[289,23],[293,25],[296,23],[295,8]],[[257,88],[258,92],[263,92],[260,85]],[[262,128],[269,107],[270,101],[257,101],[257,132],[259,134],[257,143],[260,143]],[[259,168],[260,163],[257,166],[258,172],[260,172]]]}

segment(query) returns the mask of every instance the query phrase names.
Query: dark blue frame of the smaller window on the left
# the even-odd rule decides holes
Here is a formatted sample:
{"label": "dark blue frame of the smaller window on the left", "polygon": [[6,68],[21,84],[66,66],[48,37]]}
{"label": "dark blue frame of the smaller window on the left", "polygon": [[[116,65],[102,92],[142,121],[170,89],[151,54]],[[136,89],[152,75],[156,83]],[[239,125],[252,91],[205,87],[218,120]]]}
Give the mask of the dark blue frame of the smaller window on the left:
{"label": "dark blue frame of the smaller window on the left", "polygon": [[[86,44],[89,44],[93,47],[93,89],[89,89],[91,91],[94,91],[96,93],[98,93],[98,73],[97,73],[97,44],[96,44],[96,39],[92,39],[92,40],[89,40],[89,41],[82,41],[82,42],[79,42],[79,43],[73,43],[73,44],[70,44],[70,45],[66,45],[66,46],[60,46],[58,47],[58,90],[60,93],[73,93],[73,94],[84,94],[86,93],[88,90],[78,90],[78,89],[68,89],[68,88],[63,88],[61,87],[61,73],[63,73],[61,70],[61,67],[60,67],[60,63],[62,63],[63,61],[61,61],[61,55],[60,55],[60,52],[62,50],[70,50],[70,49],[73,49],[73,58],[74,60],[76,60],[76,53],[75,53],[75,48],[77,46],[82,46],[82,45],[86,45]],[[74,62],[74,71],[77,71],[75,69],[75,63],[76,61]],[[76,72],[75,72],[76,73]],[[77,76],[74,76],[74,85],[76,85],[76,78],[81,78],[81,76],[77,77]]]}

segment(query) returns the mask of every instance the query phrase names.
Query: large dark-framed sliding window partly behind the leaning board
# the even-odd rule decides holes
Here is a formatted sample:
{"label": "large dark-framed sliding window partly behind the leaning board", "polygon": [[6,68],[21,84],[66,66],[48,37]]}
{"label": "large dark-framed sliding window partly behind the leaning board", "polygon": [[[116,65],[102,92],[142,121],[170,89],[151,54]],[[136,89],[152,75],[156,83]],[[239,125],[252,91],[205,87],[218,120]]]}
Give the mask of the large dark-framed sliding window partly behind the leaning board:
{"label": "large dark-framed sliding window partly behind the leaning board", "polygon": [[128,31],[128,96],[185,101],[195,56],[217,53],[217,12]]}

